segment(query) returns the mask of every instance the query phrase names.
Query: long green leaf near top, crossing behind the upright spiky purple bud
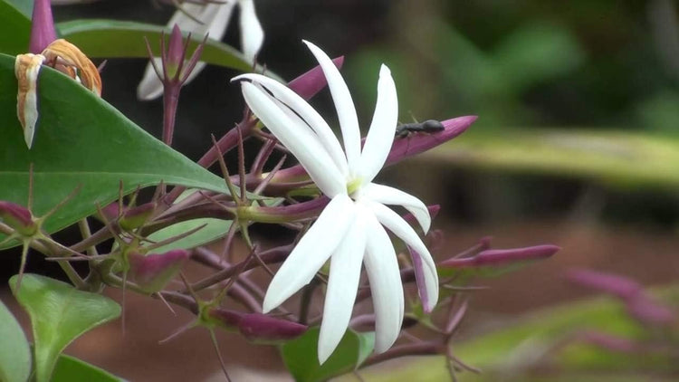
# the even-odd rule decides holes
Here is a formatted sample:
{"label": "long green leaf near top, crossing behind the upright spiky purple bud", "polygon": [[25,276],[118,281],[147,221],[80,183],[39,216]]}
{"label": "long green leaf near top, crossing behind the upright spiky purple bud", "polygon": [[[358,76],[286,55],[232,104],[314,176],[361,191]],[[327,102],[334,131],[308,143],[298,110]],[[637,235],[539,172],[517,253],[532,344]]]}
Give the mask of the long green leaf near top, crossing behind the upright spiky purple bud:
{"label": "long green leaf near top, crossing behind the upright spiky purple bud", "polygon": [[[57,25],[63,38],[78,46],[81,51],[93,58],[139,57],[148,58],[144,37],[148,39],[151,51],[159,55],[161,33],[166,38],[169,29],[153,24],[142,24],[116,20],[73,20]],[[185,38],[186,38],[185,33]],[[192,43],[188,52],[192,53],[204,36],[191,35]],[[200,56],[201,61],[250,72],[253,64],[244,59],[243,53],[233,47],[213,39],[207,39]]]}

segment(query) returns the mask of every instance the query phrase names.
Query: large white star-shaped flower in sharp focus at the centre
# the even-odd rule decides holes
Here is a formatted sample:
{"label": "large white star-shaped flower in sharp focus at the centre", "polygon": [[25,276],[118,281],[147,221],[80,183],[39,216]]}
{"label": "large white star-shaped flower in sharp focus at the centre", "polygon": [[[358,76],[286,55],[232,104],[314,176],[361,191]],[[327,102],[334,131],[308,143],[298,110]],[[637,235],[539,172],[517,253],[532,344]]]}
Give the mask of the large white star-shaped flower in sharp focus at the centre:
{"label": "large white star-shaped flower in sharp focus at the centre", "polygon": [[396,188],[372,183],[385,163],[397,126],[397,93],[387,66],[382,65],[379,72],[377,106],[361,150],[359,121],[346,83],[325,53],[312,43],[304,43],[328,80],[344,150],[328,123],[294,91],[258,74],[244,74],[234,80],[242,81],[244,99],[253,113],[331,199],[273,277],[263,301],[264,312],[273,310],[311,282],[331,256],[318,347],[322,363],[349,325],[361,263],[366,266],[372,291],[376,351],[389,349],[398,337],[404,313],[403,286],[385,227],[414,249],[425,264],[426,310],[433,309],[438,300],[438,276],[431,254],[415,230],[386,206],[402,205],[427,232],[431,217],[426,205]]}

